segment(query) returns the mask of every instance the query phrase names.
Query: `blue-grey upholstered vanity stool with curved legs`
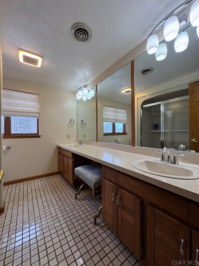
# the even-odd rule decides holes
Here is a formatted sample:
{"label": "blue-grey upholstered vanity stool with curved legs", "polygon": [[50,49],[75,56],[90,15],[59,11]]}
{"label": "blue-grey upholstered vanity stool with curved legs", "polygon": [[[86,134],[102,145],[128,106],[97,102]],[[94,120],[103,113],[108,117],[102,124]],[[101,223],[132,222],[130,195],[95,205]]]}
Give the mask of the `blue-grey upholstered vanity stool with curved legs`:
{"label": "blue-grey upholstered vanity stool with curved legs", "polygon": [[[102,167],[99,164],[88,164],[75,168],[75,178],[79,178],[83,184],[80,186],[75,199],[80,194],[81,189],[87,184],[93,190],[93,196],[100,197],[99,188],[102,186]],[[101,198],[101,197],[100,197]],[[93,223],[96,225],[96,219],[100,216],[102,205],[99,207],[98,214],[93,216]]]}

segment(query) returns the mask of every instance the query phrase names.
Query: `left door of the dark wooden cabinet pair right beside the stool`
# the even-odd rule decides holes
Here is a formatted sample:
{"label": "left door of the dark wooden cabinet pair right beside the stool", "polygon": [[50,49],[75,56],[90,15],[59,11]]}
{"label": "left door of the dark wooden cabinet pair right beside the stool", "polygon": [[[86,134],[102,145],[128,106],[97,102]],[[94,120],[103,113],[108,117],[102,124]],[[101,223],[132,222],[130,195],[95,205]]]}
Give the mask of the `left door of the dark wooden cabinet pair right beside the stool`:
{"label": "left door of the dark wooden cabinet pair right beside the stool", "polygon": [[105,179],[102,182],[103,220],[117,234],[117,186]]}

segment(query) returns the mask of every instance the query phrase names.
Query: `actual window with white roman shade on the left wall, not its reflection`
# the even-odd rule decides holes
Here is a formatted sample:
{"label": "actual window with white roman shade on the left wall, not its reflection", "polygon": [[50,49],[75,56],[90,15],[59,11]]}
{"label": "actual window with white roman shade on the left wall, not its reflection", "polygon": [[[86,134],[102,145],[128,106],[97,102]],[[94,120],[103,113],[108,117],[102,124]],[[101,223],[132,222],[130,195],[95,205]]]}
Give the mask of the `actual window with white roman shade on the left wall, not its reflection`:
{"label": "actual window with white roman shade on the left wall, not its reflection", "polygon": [[39,138],[39,95],[3,89],[3,138]]}

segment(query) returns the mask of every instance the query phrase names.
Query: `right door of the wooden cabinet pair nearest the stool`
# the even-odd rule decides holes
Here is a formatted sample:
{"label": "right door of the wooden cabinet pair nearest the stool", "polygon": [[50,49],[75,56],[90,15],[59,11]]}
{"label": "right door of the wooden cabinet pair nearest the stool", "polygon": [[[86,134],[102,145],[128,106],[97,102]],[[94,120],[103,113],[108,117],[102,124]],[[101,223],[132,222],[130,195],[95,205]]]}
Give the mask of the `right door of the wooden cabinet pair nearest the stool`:
{"label": "right door of the wooden cabinet pair nearest the stool", "polygon": [[141,259],[141,200],[118,188],[118,237]]}

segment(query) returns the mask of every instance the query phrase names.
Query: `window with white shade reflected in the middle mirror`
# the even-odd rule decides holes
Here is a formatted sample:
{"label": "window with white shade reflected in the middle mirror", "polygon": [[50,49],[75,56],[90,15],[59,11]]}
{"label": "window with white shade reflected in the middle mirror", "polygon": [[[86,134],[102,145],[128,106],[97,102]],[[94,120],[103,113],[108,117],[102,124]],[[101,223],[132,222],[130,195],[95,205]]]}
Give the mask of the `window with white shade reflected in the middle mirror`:
{"label": "window with white shade reflected in the middle mirror", "polygon": [[104,135],[127,134],[127,110],[104,106]]}

